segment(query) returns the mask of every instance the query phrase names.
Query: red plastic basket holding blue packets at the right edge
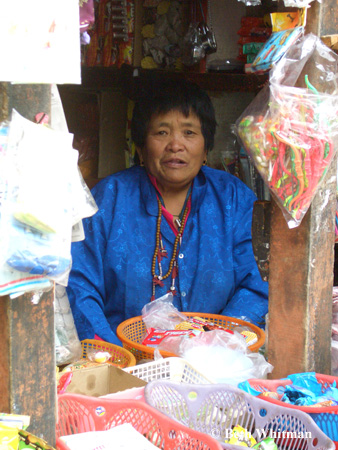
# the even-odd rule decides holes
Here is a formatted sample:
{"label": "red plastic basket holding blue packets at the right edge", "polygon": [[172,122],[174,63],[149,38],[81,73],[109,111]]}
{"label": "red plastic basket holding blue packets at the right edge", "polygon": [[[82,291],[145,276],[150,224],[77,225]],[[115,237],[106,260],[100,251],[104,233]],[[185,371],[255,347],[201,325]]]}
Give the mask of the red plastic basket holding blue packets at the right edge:
{"label": "red plastic basket holding blue packets at the right edge", "polygon": [[[332,386],[335,383],[335,387],[338,385],[338,378],[330,375],[323,375],[316,373],[317,381],[323,386],[323,392],[328,386]],[[274,391],[277,388],[286,386],[287,384],[292,384],[291,380],[248,380],[250,386],[259,392]],[[270,397],[265,397],[263,394],[259,395],[263,400],[273,403],[275,405],[283,406],[285,408],[290,408],[292,410],[298,409],[308,413],[312,419],[316,422],[318,427],[332,439],[338,450],[338,406],[298,406],[291,405],[289,403],[282,402],[277,399]],[[280,396],[281,398],[282,396]]]}

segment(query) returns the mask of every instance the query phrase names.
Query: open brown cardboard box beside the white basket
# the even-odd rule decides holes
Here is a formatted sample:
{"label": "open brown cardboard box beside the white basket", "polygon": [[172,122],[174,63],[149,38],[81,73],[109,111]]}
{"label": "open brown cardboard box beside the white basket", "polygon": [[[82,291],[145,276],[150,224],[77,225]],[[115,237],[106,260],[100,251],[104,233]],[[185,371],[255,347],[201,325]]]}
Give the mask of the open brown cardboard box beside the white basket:
{"label": "open brown cardboard box beside the white basket", "polygon": [[146,384],[144,380],[124,372],[118,367],[103,364],[74,370],[72,381],[66,392],[100,397],[134,387],[143,387]]}

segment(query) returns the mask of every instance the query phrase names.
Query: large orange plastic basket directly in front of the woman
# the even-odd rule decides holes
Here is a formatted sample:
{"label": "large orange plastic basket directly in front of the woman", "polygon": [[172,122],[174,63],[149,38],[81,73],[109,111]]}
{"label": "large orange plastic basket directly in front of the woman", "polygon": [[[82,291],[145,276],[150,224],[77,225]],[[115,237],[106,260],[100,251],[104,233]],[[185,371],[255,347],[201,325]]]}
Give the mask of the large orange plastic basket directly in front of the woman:
{"label": "large orange plastic basket directly in front of the woman", "polygon": [[[230,330],[233,330],[234,328],[245,328],[253,331],[257,334],[257,342],[248,347],[253,352],[257,352],[259,348],[264,344],[264,330],[257,327],[256,325],[253,325],[252,323],[245,322],[244,320],[234,319],[233,317],[220,316],[218,314],[197,312],[185,312],[183,314],[188,317],[199,316],[201,318],[210,320],[217,325],[229,328]],[[142,320],[142,316],[137,316],[125,320],[124,322],[120,323],[116,330],[117,337],[122,342],[123,347],[134,354],[136,361],[141,361],[142,359],[154,359],[154,348],[140,344],[145,336],[145,333],[146,327]],[[166,351],[160,351],[160,353],[163,358],[168,358],[169,356],[177,356]]]}

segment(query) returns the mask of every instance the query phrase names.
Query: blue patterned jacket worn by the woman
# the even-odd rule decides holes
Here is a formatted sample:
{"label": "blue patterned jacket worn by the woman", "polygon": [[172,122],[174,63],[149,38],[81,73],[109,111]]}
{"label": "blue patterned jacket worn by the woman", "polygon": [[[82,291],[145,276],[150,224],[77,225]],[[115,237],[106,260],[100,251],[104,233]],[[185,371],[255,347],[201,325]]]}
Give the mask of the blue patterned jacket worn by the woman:
{"label": "blue patterned jacket worn by the woman", "polygon": [[[84,219],[85,240],[72,244],[67,293],[79,338],[97,334],[119,344],[116,328],[141,315],[152,295],[158,203],[143,167],[113,174],[92,190],[99,207]],[[253,192],[238,178],[203,166],[194,179],[191,211],[178,252],[175,306],[209,312],[262,326],[268,312],[268,284],[262,281],[251,244]],[[175,235],[162,217],[168,258]],[[156,287],[156,298],[166,294]]]}

